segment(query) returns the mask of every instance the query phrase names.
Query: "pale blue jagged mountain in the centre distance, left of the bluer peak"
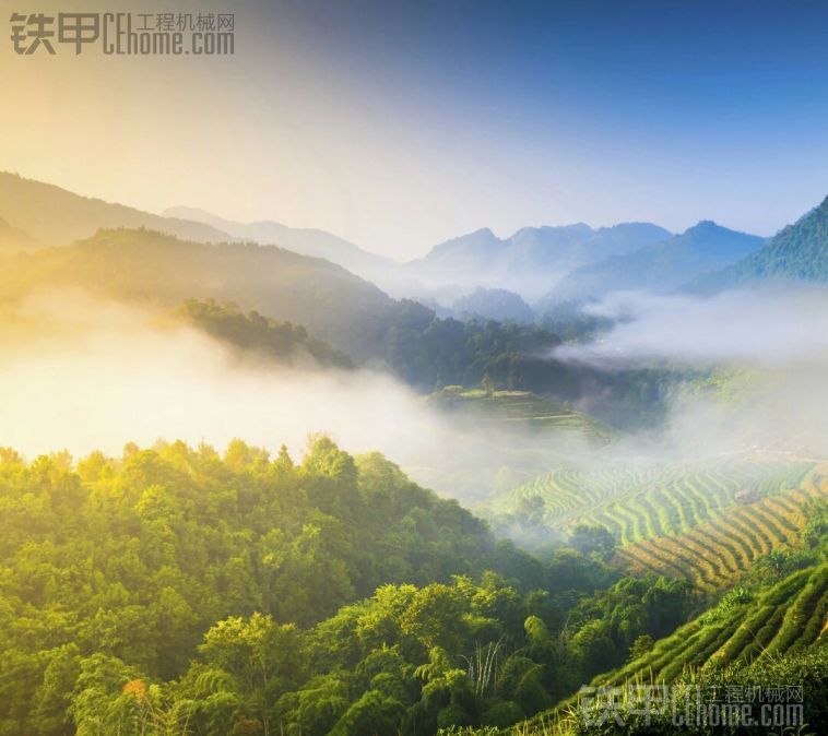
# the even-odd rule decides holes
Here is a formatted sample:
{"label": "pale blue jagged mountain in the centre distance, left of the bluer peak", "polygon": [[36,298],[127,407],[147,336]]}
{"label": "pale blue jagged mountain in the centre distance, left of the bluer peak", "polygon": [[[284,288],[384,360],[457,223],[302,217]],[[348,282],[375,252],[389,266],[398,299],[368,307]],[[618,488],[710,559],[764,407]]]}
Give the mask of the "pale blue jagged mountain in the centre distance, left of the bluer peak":
{"label": "pale blue jagged mountain in the centre distance, left of the bluer peak", "polygon": [[484,228],[435,246],[424,259],[411,262],[407,270],[433,287],[502,287],[533,298],[573,269],[659,242],[670,235],[650,223],[599,229],[583,223],[524,227],[505,239]]}

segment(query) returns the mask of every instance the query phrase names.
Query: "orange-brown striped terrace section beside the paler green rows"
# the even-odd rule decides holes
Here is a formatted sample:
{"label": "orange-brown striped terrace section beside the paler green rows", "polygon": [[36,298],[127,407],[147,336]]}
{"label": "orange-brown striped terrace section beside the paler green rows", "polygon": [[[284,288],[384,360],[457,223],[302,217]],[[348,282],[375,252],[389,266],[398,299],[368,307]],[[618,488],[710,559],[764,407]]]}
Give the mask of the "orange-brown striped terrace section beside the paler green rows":
{"label": "orange-brown striped terrace section beside the paler green rows", "polygon": [[722,587],[759,556],[794,544],[818,498],[828,498],[828,476],[812,472],[801,488],[736,506],[684,534],[627,545],[616,562],[631,574],[657,572],[688,578],[707,590]]}

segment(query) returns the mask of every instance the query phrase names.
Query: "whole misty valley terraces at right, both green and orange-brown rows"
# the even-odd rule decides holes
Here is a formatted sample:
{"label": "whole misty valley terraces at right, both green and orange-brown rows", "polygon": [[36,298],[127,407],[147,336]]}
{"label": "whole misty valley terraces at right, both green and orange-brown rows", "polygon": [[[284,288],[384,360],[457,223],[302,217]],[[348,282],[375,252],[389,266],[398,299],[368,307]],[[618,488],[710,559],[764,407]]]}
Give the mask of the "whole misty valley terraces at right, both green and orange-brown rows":
{"label": "whole misty valley terraces at right, both green and orange-brown rows", "polygon": [[734,458],[561,467],[500,495],[483,514],[535,538],[543,527],[565,535],[575,524],[599,524],[619,541],[614,561],[625,572],[687,578],[712,590],[794,544],[817,499],[828,499],[828,466]]}

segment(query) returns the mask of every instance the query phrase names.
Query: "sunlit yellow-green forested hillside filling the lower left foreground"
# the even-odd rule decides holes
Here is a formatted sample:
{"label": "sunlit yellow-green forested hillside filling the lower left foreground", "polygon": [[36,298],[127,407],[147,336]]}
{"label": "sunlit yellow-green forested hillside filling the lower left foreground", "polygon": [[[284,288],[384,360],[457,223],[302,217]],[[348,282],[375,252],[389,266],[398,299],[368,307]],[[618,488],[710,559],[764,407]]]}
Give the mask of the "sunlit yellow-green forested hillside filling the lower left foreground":
{"label": "sunlit yellow-green forested hillside filling the lower left foreground", "polygon": [[[532,591],[571,606],[612,581],[575,551],[542,563],[496,543],[381,455],[326,438],[299,464],[240,441],[224,455],[176,442],[76,464],[2,449],[0,509],[10,736],[285,733],[280,720],[321,736],[352,705],[351,719],[397,727],[421,665],[440,695],[413,733],[433,733],[443,695],[468,689],[460,654],[522,637],[530,615],[563,625],[554,596]],[[339,733],[374,732],[346,719]]]}

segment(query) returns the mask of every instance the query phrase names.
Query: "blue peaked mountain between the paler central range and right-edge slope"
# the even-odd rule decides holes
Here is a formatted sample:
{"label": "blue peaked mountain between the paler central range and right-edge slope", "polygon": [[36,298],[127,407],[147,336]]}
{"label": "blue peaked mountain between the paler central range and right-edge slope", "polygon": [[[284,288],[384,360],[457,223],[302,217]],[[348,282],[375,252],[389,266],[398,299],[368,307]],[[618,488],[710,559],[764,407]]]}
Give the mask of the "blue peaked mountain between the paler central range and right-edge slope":
{"label": "blue peaked mountain between the paler central range and right-edge slope", "polygon": [[735,263],[764,244],[758,236],[703,221],[663,242],[577,269],[535,308],[543,312],[563,301],[595,299],[620,290],[665,294],[702,273]]}

